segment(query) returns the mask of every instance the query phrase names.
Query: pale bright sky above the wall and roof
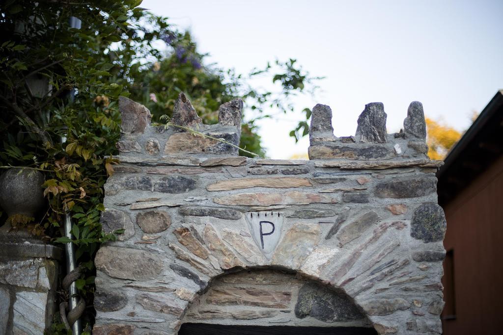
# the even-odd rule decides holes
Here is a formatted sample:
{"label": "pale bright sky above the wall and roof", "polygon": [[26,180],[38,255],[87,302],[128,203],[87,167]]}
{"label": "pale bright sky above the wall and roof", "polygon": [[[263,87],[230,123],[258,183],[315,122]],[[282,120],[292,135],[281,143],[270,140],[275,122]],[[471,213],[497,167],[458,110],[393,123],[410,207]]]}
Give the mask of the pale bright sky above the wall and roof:
{"label": "pale bright sky above the wall and roof", "polygon": [[[381,101],[388,132],[410,101],[458,130],[503,88],[503,1],[144,0],[141,7],[189,29],[208,62],[247,73],[296,58],[322,92],[296,101],[296,115],[261,121],[271,158],[307,151],[289,131],[315,103],[333,111],[336,136],[354,135],[369,102]],[[246,112],[250,114],[248,111]]]}

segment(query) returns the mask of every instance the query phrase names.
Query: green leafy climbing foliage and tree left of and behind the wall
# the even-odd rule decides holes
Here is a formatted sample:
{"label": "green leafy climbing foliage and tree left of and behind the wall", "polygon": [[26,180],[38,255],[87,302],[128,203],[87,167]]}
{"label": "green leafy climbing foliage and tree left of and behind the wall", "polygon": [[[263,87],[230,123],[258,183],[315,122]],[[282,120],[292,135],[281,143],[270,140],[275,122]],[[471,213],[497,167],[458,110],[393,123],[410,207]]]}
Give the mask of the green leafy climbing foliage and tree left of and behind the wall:
{"label": "green leafy climbing foliage and tree left of and behind the wall", "polygon": [[[145,104],[159,122],[161,115],[171,116],[183,91],[211,124],[217,122],[218,106],[235,97],[243,98],[246,110],[258,111],[258,118],[270,118],[267,110],[288,113],[292,96],[315,88],[316,78],[293,59],[245,76],[205,65],[190,34],[138,8],[140,3],[6,0],[0,5],[0,166],[44,172],[49,205],[28,228],[52,243],[76,246],[77,262],[86,269],[77,287],[88,306],[94,255],[101,243],[115,239],[102,231],[100,213],[103,185],[117,163],[111,155],[120,137],[119,95]],[[72,17],[81,20],[79,29],[71,28]],[[157,49],[159,42],[165,48]],[[271,76],[279,91],[251,87],[249,79],[258,76]],[[307,134],[309,116],[307,109],[292,136]],[[240,146],[264,155],[256,120],[242,125]],[[61,237],[67,210],[73,218],[71,240]],[[0,224],[5,220],[0,216]],[[90,307],[83,316],[88,329],[93,319]],[[53,330],[62,329],[56,324]]]}

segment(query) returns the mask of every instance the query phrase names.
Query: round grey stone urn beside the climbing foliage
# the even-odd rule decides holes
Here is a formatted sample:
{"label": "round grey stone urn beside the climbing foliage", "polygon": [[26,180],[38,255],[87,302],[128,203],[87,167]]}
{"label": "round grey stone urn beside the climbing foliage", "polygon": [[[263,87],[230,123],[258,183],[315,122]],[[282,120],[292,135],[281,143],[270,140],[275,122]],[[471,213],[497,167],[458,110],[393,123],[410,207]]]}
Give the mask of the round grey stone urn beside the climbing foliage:
{"label": "round grey stone urn beside the climbing foliage", "polygon": [[[35,217],[44,206],[44,175],[33,169],[11,168],[0,176],[0,206],[9,217]],[[9,225],[10,226],[10,225]],[[2,230],[5,230],[3,227]]]}

